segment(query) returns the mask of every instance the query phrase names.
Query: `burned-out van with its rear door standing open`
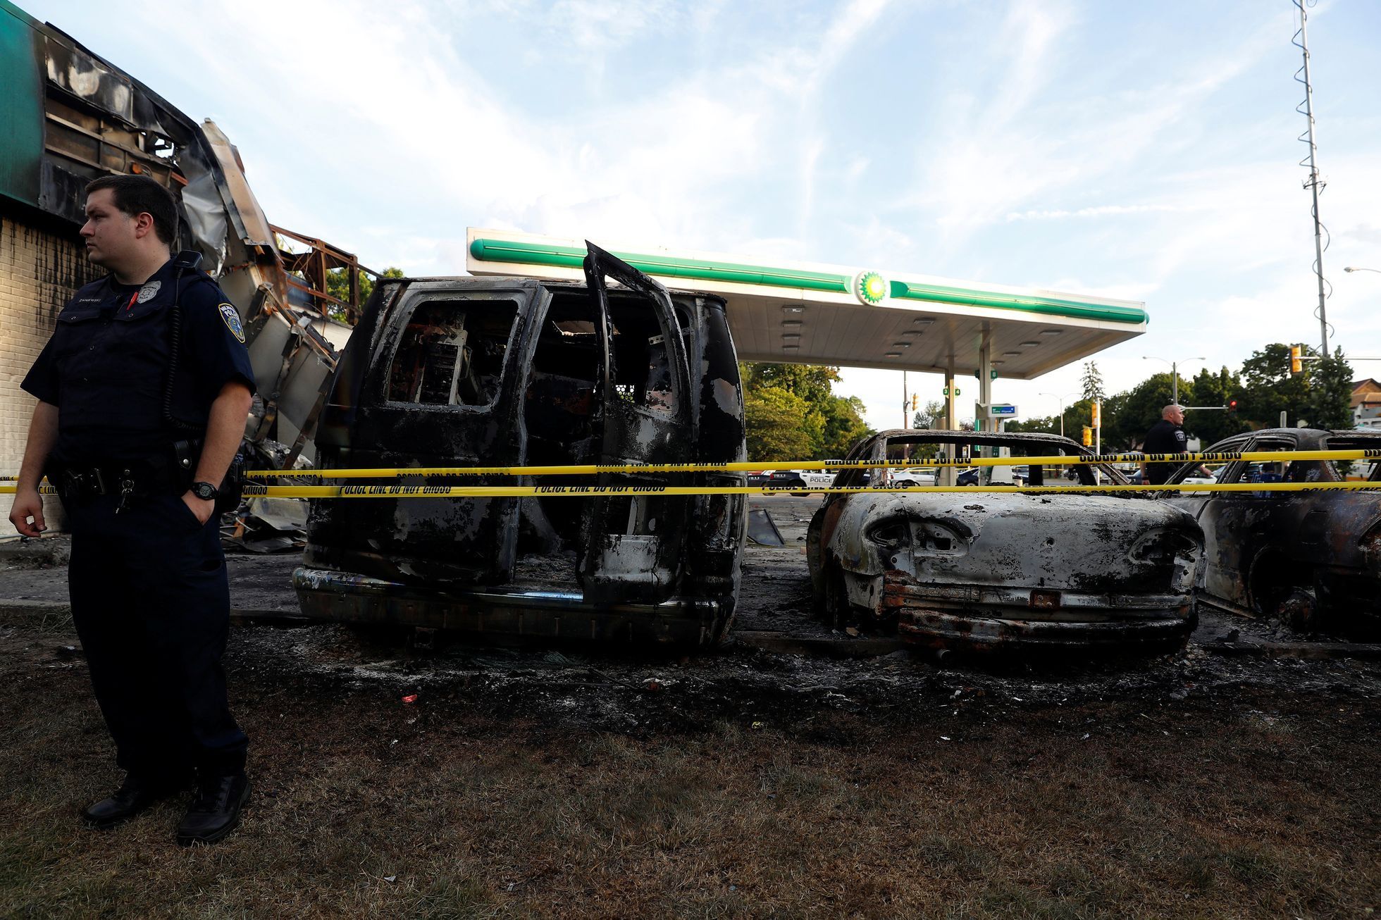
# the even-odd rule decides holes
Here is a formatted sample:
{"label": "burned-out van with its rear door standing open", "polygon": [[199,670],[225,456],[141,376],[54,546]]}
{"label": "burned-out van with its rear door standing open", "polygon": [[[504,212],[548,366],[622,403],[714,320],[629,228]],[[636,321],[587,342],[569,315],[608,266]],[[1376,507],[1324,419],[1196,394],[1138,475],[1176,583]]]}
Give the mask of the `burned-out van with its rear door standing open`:
{"label": "burned-out van with its rear door standing open", "polygon": [[[724,303],[668,294],[588,251],[584,285],[381,282],[325,406],[319,467],[742,461],[743,395]],[[742,486],[743,477],[675,482]],[[667,483],[632,471],[540,485]],[[315,501],[294,584],[304,612],[326,619],[708,644],[733,615],[744,525],[742,495]]]}

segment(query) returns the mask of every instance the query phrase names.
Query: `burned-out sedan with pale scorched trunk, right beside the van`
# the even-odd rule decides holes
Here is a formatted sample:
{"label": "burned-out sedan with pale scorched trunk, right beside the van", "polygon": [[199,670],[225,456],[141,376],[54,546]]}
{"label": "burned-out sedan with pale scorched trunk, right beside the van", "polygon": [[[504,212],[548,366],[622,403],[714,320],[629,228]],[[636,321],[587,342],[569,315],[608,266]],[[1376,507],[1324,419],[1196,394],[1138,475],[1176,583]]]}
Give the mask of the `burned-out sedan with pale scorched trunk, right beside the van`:
{"label": "burned-out sedan with pale scorched trunk, right beside the van", "polygon": [[[845,460],[935,449],[1014,464],[1088,454],[1055,435],[894,430],[863,439]],[[1094,485],[1092,467],[1074,468],[1080,483]],[[1103,482],[1126,482],[1098,470]],[[979,471],[989,483],[1014,483],[1012,466]],[[860,472],[842,470],[836,485],[860,485]],[[1025,472],[1030,486],[1074,485],[1062,467]],[[1193,629],[1201,550],[1193,517],[1166,501],[1077,492],[829,495],[807,533],[812,588],[830,622],[958,651],[1177,648]]]}

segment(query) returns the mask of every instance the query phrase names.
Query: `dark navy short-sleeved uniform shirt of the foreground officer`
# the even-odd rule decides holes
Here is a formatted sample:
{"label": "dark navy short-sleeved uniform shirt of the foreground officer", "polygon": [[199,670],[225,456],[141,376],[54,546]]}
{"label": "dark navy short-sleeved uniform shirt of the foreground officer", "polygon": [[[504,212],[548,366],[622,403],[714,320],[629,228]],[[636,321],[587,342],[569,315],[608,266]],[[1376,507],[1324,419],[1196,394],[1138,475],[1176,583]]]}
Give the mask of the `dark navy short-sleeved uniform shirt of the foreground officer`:
{"label": "dark navy short-sleeved uniform shirt of the foreground officer", "polygon": [[[167,421],[163,405],[178,301],[181,348],[168,409],[186,430]],[[170,260],[144,285],[109,275],[79,290],[22,385],[58,408],[54,459],[104,463],[200,437],[231,380],[254,391],[239,314],[206,272],[180,274]]]}

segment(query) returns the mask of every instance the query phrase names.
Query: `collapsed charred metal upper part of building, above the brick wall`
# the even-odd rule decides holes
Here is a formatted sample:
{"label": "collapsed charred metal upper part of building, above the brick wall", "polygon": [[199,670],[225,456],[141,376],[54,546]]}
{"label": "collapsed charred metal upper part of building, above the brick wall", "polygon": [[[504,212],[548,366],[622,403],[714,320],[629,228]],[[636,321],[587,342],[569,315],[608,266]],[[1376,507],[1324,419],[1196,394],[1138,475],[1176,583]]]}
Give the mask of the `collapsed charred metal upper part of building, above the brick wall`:
{"label": "collapsed charred metal upper part of building, above the brick wall", "polygon": [[[102,175],[148,175],[178,202],[174,249],[203,256],[239,309],[262,399],[247,437],[311,454],[341,325],[358,304],[358,260],[269,224],[239,151],[213,123],[197,124],[157,93],[51,23],[0,0],[0,207],[37,213],[72,238],[86,221],[86,185]],[[279,249],[289,236],[307,253]],[[351,298],[326,293],[344,268]]]}

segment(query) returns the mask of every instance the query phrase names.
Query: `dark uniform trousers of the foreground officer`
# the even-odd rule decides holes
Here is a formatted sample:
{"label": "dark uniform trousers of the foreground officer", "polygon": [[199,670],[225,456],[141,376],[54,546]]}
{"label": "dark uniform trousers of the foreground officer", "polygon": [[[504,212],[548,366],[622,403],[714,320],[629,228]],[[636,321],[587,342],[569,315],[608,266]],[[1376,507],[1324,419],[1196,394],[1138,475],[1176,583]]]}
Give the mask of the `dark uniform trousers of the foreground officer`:
{"label": "dark uniform trousers of the foreground officer", "polygon": [[231,595],[218,515],[203,525],[181,496],[65,501],[69,591],[116,763],[152,782],[244,768],[221,656]]}

